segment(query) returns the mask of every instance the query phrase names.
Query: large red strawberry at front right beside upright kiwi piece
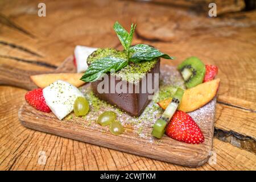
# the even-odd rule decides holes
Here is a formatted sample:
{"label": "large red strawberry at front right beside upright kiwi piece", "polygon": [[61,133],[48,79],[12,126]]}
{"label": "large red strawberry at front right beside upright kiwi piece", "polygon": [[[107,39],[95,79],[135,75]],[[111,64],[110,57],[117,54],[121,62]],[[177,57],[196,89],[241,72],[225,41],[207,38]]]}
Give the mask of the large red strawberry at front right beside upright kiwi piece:
{"label": "large red strawberry at front right beside upright kiwi piece", "polygon": [[204,135],[190,115],[177,110],[166,129],[166,135],[185,143],[204,142]]}

